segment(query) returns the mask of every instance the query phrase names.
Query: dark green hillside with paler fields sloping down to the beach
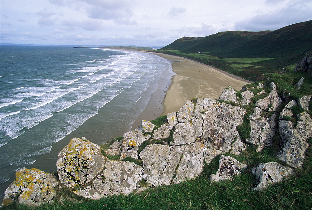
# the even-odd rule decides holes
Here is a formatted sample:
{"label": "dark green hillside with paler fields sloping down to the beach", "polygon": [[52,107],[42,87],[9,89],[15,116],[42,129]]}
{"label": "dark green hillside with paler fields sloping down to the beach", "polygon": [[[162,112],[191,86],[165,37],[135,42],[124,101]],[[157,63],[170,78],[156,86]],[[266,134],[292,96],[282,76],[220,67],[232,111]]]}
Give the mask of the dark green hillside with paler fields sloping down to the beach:
{"label": "dark green hillside with paler fields sloping down to the beach", "polygon": [[261,81],[312,51],[311,40],[312,20],[275,31],[228,31],[207,37],[183,37],[154,52],[186,57],[251,81]]}

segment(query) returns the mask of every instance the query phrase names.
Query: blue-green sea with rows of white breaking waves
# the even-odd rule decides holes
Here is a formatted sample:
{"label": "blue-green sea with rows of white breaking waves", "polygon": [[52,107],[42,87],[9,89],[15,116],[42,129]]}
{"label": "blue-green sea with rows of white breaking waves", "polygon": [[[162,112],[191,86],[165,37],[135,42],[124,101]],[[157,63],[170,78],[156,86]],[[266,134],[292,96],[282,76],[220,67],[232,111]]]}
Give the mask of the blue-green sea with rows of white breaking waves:
{"label": "blue-green sea with rows of white breaking waves", "polygon": [[160,82],[161,110],[174,75],[170,61],[139,51],[0,45],[0,59],[1,198],[18,169],[51,164],[57,142],[103,144],[131,130]]}

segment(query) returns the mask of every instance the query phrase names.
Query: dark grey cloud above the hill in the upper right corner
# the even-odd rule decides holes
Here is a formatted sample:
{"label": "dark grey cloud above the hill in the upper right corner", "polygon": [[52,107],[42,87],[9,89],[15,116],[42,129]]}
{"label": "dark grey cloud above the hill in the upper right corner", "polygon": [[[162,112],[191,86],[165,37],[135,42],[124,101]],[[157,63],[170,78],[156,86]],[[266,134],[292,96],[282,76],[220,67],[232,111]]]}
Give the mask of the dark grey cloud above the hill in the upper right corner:
{"label": "dark grey cloud above the hill in the upper right corner", "polygon": [[244,31],[276,30],[297,22],[311,20],[311,11],[312,8],[306,4],[306,1],[291,2],[280,10],[258,14],[255,17],[236,22],[234,29]]}

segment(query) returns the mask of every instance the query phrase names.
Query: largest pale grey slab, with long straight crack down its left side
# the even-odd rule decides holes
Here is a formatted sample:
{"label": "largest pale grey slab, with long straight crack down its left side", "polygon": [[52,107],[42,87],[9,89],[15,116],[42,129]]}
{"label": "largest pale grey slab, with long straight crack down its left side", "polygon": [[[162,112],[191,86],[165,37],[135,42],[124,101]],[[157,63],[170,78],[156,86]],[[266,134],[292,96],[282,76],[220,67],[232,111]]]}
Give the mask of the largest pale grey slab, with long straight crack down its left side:
{"label": "largest pale grey slab, with long straight crack down its left side", "polygon": [[201,139],[205,147],[229,152],[238,137],[236,126],[243,122],[246,110],[205,98],[204,112]]}

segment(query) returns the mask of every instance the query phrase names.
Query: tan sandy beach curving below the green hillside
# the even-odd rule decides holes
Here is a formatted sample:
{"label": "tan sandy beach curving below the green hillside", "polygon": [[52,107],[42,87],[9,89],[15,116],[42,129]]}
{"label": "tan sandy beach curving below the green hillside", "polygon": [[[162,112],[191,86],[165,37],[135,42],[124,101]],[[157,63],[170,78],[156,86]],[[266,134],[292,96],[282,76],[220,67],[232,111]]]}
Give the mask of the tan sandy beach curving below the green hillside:
{"label": "tan sandy beach curving below the green hillside", "polygon": [[177,74],[173,76],[166,93],[162,115],[178,111],[186,100],[191,100],[193,97],[218,99],[222,90],[229,85],[236,90],[241,90],[244,84],[250,83],[225,71],[187,58],[162,53],[153,54],[171,61],[172,69]]}

